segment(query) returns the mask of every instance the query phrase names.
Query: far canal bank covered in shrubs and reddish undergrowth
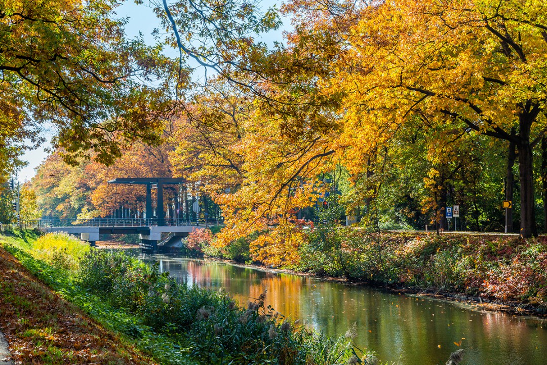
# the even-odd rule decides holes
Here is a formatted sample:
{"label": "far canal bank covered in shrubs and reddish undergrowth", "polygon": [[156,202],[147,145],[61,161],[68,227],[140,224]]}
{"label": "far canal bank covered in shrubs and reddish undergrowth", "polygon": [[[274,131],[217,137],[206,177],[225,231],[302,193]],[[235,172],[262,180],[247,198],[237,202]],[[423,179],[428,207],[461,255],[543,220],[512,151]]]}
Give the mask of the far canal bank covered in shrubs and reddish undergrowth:
{"label": "far canal bank covered in shrubs and reddish undergrowth", "polygon": [[545,237],[468,234],[369,232],[340,225],[305,231],[290,260],[270,256],[253,240],[240,239],[219,248],[214,236],[195,233],[188,248],[205,255],[257,263],[317,276],[345,277],[375,286],[411,288],[511,304],[539,312],[547,309],[547,243]]}

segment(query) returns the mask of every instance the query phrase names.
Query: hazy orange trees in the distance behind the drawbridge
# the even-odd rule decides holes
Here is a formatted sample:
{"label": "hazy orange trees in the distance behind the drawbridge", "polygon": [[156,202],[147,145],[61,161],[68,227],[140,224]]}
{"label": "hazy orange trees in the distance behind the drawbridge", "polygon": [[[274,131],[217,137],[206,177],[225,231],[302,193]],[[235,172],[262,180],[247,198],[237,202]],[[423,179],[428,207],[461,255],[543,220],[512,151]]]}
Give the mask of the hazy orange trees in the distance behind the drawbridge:
{"label": "hazy orange trees in the distance behind the drawbridge", "polygon": [[[32,179],[38,206],[45,215],[62,218],[94,218],[108,216],[119,207],[142,211],[143,187],[109,186],[117,177],[170,177],[171,164],[167,144],[158,147],[135,143],[122,150],[112,166],[82,160],[79,166],[66,165],[59,151],[50,155],[38,167]],[[166,190],[166,194],[171,194]]]}

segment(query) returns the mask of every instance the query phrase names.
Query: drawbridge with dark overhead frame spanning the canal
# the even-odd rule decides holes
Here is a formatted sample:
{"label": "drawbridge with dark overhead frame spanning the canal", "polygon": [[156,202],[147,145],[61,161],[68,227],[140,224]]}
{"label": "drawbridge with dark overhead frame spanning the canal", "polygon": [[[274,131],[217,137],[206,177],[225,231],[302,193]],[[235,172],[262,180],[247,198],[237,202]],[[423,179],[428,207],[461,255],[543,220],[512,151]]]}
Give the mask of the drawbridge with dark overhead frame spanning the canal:
{"label": "drawbridge with dark overhead frame spanning the canal", "polygon": [[[92,219],[39,219],[27,221],[25,225],[36,227],[45,232],[66,232],[80,235],[91,246],[100,240],[104,234],[138,234],[139,245],[144,250],[158,250],[162,234],[173,236],[187,236],[197,228],[204,228],[197,222],[189,219],[166,218],[164,211],[164,185],[184,184],[182,178],[116,178],[108,181],[109,184],[139,184],[146,186],[146,210],[144,218],[92,218]],[[153,215],[152,189],[156,192],[156,216]],[[176,196],[177,199],[177,196]]]}

